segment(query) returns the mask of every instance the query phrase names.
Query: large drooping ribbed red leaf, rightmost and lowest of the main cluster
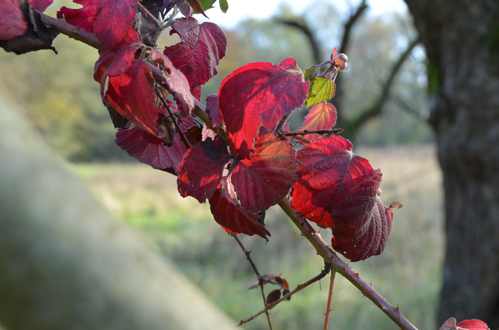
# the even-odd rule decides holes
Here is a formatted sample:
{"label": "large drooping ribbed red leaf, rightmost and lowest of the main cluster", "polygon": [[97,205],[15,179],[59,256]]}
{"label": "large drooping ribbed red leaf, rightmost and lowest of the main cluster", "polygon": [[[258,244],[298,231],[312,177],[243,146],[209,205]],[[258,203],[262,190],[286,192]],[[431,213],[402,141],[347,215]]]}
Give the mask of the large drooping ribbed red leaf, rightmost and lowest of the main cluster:
{"label": "large drooping ribbed red leaf, rightmost and lowest of the main cluster", "polygon": [[383,251],[392,216],[378,197],[379,169],[351,150],[348,140],[331,136],[298,151],[300,178],[291,190],[291,205],[319,226],[332,228],[334,249],[358,261]]}

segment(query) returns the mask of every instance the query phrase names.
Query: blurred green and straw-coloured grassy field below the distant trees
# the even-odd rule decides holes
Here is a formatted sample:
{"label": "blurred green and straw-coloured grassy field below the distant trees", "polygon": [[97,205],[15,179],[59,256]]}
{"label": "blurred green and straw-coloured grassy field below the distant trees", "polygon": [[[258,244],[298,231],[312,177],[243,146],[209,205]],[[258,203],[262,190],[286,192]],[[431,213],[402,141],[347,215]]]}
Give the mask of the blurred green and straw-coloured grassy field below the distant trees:
{"label": "blurred green and straw-coloured grassy field below the distant trees", "polygon": [[[418,329],[436,329],[444,239],[442,175],[435,150],[359,148],[356,153],[381,168],[385,204],[399,200],[405,206],[394,210],[385,252],[350,266],[365,280],[372,279],[392,305],[398,303]],[[234,320],[263,307],[260,292],[248,291],[255,276],[237,242],[213,220],[208,204],[178,194],[176,176],[139,163],[68,166],[106,208],[174,260]],[[241,235],[260,273],[282,273],[294,288],[320,272],[321,258],[278,206],[267,211],[265,224],[272,235],[266,244],[260,237]],[[330,230],[321,235],[326,242],[331,239]],[[275,330],[322,329],[328,282],[322,281],[322,290],[313,284],[274,308]],[[329,329],[399,329],[339,275],[334,293]],[[258,317],[245,329],[268,329],[266,318]]]}

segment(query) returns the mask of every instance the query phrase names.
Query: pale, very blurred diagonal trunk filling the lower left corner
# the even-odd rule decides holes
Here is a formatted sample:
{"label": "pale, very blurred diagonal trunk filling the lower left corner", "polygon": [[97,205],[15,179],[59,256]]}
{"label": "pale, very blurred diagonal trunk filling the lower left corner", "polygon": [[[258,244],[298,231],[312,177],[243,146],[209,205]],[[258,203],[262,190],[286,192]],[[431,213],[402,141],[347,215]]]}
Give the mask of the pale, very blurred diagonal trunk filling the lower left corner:
{"label": "pale, very blurred diagonal trunk filling the lower left corner", "polygon": [[168,260],[104,210],[1,93],[0,126],[2,326],[234,328]]}

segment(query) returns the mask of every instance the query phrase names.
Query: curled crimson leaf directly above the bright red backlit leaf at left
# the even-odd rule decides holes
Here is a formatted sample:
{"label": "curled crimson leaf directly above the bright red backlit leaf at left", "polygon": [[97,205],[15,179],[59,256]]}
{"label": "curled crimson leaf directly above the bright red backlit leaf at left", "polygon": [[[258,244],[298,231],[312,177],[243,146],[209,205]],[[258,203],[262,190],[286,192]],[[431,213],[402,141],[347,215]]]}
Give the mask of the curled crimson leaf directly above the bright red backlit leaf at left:
{"label": "curled crimson leaf directly above the bright red backlit leaf at left", "polygon": [[94,67],[94,80],[100,83],[100,93],[103,99],[106,78],[119,76],[128,70],[139,46],[139,35],[130,27],[116,51],[109,47],[100,47],[99,59]]}

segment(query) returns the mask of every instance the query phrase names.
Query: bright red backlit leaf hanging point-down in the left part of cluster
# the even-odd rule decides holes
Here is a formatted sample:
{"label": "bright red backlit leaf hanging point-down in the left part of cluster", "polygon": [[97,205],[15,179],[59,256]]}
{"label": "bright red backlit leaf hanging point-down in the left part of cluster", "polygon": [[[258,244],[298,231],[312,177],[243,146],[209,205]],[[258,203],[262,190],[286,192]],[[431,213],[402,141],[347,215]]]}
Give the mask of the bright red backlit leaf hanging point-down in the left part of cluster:
{"label": "bright red backlit leaf hanging point-down in the left part of cluster", "polygon": [[110,77],[106,98],[125,118],[156,135],[158,113],[154,105],[154,79],[149,66],[133,60],[130,67],[117,77]]}

